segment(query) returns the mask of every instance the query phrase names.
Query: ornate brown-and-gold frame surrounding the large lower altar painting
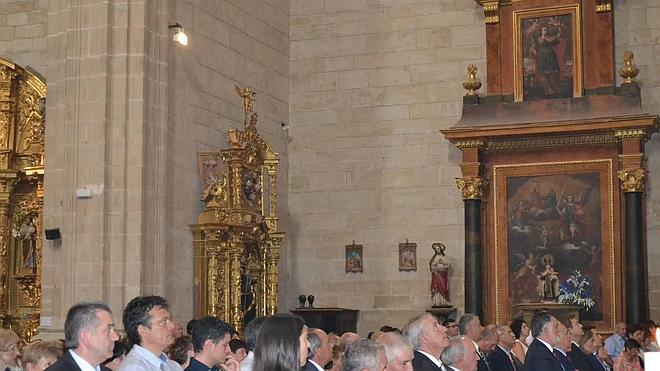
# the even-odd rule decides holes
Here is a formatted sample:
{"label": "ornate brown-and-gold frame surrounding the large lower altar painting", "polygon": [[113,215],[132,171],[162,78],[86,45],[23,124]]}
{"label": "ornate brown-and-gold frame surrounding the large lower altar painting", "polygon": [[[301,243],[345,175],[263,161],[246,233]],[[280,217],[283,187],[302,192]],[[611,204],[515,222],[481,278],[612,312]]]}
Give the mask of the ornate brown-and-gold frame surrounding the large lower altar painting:
{"label": "ornate brown-and-gold frame surrounding the large lower altar painting", "polygon": [[[603,253],[607,254],[603,258],[607,259],[604,267],[609,270],[609,279],[603,280],[603,292],[609,294],[609,300],[603,304],[603,315],[607,316],[602,325],[598,326],[599,330],[612,331],[616,323],[617,298],[616,289],[620,282],[617,282],[616,272],[617,256],[620,254],[617,251],[617,244],[615,241],[615,217],[614,217],[614,197],[618,195],[616,192],[617,184],[614,182],[614,164],[611,159],[597,159],[597,160],[580,160],[580,161],[560,161],[560,162],[544,162],[544,163],[524,163],[513,165],[495,165],[493,166],[493,220],[494,220],[494,273],[495,273],[495,318],[497,322],[506,322],[510,320],[513,313],[508,313],[508,308],[503,310],[505,303],[509,301],[509,288],[508,288],[508,248],[507,248],[507,232],[508,225],[508,210],[506,200],[506,178],[508,176],[534,176],[534,175],[550,175],[550,174],[566,174],[566,173],[583,173],[583,172],[599,172],[604,175],[601,179],[601,236],[603,244],[607,243],[608,246],[603,246]],[[606,205],[606,207],[602,207]],[[504,225],[502,225],[502,221]],[[507,257],[507,258],[504,258]],[[506,280],[503,282],[503,280]],[[620,280],[620,278],[619,278]],[[607,282],[609,287],[605,286]],[[504,286],[504,290],[503,290]],[[605,311],[605,308],[608,311]],[[604,325],[604,326],[603,326]]]}

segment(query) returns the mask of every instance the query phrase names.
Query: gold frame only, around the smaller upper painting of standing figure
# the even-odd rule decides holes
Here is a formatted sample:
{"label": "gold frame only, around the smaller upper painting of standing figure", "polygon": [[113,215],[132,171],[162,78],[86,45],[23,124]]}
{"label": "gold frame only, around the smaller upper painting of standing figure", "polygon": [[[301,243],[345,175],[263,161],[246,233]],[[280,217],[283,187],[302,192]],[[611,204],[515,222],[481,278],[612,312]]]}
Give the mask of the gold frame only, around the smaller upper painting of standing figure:
{"label": "gold frame only, around the smaller upper painting of standing figure", "polygon": [[533,10],[513,11],[513,96],[516,102],[523,97],[523,55],[521,26],[526,18],[549,17],[570,14],[573,19],[573,97],[582,96],[582,22],[580,5],[557,6]]}

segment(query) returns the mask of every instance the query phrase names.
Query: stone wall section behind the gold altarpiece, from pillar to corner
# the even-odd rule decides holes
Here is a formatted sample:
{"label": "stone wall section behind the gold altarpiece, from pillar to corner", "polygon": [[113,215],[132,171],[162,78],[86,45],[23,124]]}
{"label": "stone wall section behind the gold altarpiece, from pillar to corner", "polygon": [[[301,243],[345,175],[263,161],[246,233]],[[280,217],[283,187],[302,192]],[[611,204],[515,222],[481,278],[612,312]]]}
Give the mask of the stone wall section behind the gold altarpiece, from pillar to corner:
{"label": "stone wall section behind the gold altarpiece, from pillar to corner", "polygon": [[[173,43],[169,57],[165,294],[176,303],[176,318],[187,321],[193,313],[189,226],[203,208],[197,152],[227,148],[227,129],[242,128],[243,101],[235,84],[257,92],[258,128],[282,158],[279,212],[285,214],[287,141],[282,123],[289,121],[289,1],[171,0],[169,5],[170,23],[184,27],[189,43]],[[282,228],[287,230],[286,223]]]}

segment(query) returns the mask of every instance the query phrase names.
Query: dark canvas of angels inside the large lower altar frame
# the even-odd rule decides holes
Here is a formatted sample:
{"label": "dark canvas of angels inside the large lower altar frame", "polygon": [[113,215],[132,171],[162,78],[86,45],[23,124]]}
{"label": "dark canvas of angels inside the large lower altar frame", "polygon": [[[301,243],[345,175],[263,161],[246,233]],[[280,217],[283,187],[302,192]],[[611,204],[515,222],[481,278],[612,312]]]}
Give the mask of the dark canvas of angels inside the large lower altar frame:
{"label": "dark canvas of angels inside the large lower altar frame", "polygon": [[507,177],[511,313],[518,303],[561,301],[579,275],[590,298],[583,319],[602,319],[600,182],[598,172]]}

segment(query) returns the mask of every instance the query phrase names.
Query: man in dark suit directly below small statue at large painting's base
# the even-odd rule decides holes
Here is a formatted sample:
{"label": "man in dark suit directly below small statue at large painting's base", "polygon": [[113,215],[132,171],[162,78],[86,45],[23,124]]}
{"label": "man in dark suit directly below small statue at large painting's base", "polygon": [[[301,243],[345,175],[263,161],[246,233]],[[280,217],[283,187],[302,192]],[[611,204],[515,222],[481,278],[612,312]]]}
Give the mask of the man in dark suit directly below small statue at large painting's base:
{"label": "man in dark suit directly below small statue at large painting's base", "polygon": [[532,336],[525,355],[523,371],[564,371],[553,353],[553,347],[560,341],[559,322],[549,312],[535,313],[532,318]]}

